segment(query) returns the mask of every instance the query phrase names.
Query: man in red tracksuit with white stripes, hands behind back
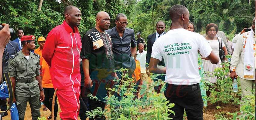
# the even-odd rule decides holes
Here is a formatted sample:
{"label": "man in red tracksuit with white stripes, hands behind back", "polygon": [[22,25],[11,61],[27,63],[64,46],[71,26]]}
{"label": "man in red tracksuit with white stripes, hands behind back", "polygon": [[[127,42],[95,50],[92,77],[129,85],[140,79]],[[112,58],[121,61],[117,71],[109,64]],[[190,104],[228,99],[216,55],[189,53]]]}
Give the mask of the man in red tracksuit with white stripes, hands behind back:
{"label": "man in red tracksuit with white stripes, hands behind back", "polygon": [[77,120],[80,95],[80,51],[81,37],[77,26],[81,22],[81,11],[75,6],[64,10],[65,20],[53,28],[45,42],[42,56],[50,66],[53,87],[61,108],[62,120]]}

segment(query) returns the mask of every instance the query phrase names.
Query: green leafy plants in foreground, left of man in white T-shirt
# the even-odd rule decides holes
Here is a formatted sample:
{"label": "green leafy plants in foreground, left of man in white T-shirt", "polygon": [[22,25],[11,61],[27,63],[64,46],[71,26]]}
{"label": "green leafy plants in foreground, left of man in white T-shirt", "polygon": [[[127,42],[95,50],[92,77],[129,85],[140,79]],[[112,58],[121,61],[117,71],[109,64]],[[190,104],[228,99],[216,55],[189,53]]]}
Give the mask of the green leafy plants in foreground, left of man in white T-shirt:
{"label": "green leafy plants in foreground, left of man in white T-shirt", "polygon": [[[87,112],[90,118],[96,116],[106,117],[107,120],[169,120],[170,110],[174,104],[169,104],[165,98],[163,91],[165,83],[161,80],[154,82],[148,88],[145,84],[140,85],[140,99],[135,99],[134,92],[136,92],[135,82],[133,78],[129,78],[125,73],[128,69],[121,68],[122,78],[114,79],[117,84],[114,88],[108,88],[109,95],[105,98],[109,110],[102,111],[101,108]],[[162,85],[161,92],[157,94],[153,88],[155,85]],[[92,95],[88,95],[92,99],[97,99]]]}

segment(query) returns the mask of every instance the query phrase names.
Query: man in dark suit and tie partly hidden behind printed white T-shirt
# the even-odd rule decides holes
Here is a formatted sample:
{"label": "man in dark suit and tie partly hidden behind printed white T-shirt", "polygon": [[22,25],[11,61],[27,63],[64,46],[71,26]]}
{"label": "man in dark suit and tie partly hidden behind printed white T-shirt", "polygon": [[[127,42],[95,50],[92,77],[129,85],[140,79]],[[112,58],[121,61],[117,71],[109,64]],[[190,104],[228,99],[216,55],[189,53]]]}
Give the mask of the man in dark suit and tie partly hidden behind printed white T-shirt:
{"label": "man in dark suit and tie partly hidden behind printed white T-shirt", "polygon": [[[151,34],[151,35],[148,35],[148,42],[147,42],[147,56],[146,56],[146,63],[149,64],[149,61],[150,61],[150,57],[151,57],[151,52],[152,52],[152,46],[153,44],[155,43],[155,41],[157,41],[157,39],[164,35],[165,32],[164,32],[164,29],[165,29],[165,23],[164,21],[158,21],[156,23],[156,31],[155,33]],[[150,73],[148,72],[148,64],[146,64],[146,73],[148,73],[148,76],[150,75]],[[159,66],[165,66],[164,64],[164,59],[162,58],[162,61],[160,61],[158,63]],[[165,80],[164,79],[165,75],[164,76],[157,76],[156,78],[157,79],[154,79],[154,81],[157,81],[158,79],[162,79],[162,80]],[[160,88],[161,86],[155,86],[155,90],[157,93],[160,93]]]}

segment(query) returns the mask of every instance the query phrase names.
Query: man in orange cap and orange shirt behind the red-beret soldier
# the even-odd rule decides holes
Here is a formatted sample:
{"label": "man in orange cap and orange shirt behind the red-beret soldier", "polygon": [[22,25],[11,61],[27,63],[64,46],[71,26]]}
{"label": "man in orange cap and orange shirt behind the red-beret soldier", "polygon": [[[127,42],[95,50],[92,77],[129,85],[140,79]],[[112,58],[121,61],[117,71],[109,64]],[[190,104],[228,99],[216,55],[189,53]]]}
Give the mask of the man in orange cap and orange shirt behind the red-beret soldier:
{"label": "man in orange cap and orange shirt behind the red-beret soldier", "polygon": [[[42,61],[43,61],[43,56],[42,56],[42,50],[45,46],[45,38],[44,37],[40,37],[37,40],[38,44],[39,44],[39,48],[35,49],[34,53],[40,55],[40,68],[42,68]],[[42,69],[40,69],[40,75],[42,77]]]}

